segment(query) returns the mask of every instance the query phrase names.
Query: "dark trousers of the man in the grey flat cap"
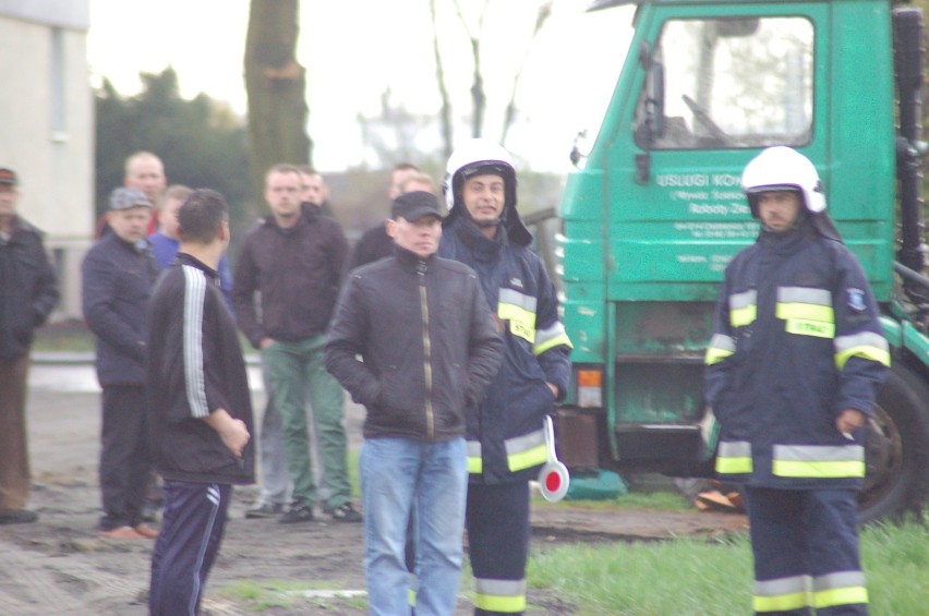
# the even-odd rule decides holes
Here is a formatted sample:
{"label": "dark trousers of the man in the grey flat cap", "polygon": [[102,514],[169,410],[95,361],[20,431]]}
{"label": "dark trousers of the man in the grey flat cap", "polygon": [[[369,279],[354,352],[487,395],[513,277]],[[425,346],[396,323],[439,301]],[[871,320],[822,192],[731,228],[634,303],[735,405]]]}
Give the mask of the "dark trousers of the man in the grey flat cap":
{"label": "dark trousers of the man in the grey flat cap", "polygon": [[100,530],[135,527],[141,520],[145,487],[152,470],[145,431],[145,388],[142,385],[104,387],[100,435]]}

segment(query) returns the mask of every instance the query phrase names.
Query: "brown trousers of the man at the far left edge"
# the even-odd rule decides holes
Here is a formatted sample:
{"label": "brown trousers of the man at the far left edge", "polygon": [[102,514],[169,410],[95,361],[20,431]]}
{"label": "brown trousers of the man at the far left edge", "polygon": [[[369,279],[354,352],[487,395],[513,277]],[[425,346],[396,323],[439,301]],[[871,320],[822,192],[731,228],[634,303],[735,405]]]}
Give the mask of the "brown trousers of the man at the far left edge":
{"label": "brown trousers of the man at the far left edge", "polygon": [[29,355],[0,358],[0,509],[23,509],[29,497],[26,374]]}

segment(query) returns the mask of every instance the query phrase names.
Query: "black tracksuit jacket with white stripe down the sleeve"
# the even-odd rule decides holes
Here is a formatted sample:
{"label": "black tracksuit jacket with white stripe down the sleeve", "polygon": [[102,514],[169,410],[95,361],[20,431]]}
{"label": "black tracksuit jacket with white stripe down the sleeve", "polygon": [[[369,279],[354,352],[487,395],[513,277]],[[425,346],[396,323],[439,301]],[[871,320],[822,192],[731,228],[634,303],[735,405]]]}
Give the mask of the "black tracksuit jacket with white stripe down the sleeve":
{"label": "black tracksuit jacket with white stripe down the sleeve", "polygon": [[152,295],[148,420],[161,476],[193,483],[254,482],[252,443],[236,458],[203,419],[225,409],[252,427],[252,399],[239,336],[219,275],[185,253]]}

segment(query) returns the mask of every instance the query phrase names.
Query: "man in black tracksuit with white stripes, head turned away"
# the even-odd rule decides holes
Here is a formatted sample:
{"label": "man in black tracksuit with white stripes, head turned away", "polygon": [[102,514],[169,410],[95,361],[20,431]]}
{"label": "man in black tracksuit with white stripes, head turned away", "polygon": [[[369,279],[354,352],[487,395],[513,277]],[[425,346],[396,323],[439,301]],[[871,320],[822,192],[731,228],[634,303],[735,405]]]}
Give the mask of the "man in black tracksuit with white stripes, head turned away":
{"label": "man in black tracksuit with white stripes, head turned away", "polygon": [[254,481],[245,362],[220,291],[229,207],[210,190],[178,212],[180,252],[153,293],[148,322],[153,451],[165,515],[152,553],[153,616],[200,613],[219,552],[232,484]]}

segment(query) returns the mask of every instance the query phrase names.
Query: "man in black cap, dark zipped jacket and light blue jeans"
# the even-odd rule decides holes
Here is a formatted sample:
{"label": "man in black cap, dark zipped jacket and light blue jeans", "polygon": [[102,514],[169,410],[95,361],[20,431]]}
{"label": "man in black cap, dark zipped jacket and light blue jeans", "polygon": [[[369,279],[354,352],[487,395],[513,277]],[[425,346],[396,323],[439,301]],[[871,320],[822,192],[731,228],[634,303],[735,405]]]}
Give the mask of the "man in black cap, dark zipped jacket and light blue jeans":
{"label": "man in black cap, dark zipped jacket and light blue jeans", "polygon": [[426,192],[394,202],[395,255],[352,271],[326,345],[326,367],[367,410],[360,474],[372,614],[409,613],[403,547],[412,511],[417,614],[455,611],[464,409],[483,398],[502,350],[474,273],[435,256],[437,205]]}

